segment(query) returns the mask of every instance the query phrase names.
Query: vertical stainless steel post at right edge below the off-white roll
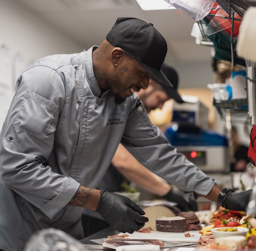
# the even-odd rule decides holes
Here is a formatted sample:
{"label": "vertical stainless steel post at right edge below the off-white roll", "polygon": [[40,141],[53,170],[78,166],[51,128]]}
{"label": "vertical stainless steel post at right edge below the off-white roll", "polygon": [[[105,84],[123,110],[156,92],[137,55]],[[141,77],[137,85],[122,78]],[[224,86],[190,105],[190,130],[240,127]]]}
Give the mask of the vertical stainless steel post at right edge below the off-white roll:
{"label": "vertical stainless steel post at right edge below the off-white roll", "polygon": [[248,116],[251,117],[251,125],[256,124],[256,68],[255,66],[247,66],[247,100],[248,100]]}

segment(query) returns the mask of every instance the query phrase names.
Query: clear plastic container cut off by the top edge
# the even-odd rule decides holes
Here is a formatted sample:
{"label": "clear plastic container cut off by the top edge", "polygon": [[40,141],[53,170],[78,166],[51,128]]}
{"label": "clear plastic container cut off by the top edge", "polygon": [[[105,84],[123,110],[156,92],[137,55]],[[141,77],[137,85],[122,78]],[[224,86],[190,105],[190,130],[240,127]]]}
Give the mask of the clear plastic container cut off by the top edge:
{"label": "clear plastic container cut off by the top edge", "polygon": [[202,20],[206,17],[212,9],[215,0],[165,0],[175,8],[184,12],[196,21]]}

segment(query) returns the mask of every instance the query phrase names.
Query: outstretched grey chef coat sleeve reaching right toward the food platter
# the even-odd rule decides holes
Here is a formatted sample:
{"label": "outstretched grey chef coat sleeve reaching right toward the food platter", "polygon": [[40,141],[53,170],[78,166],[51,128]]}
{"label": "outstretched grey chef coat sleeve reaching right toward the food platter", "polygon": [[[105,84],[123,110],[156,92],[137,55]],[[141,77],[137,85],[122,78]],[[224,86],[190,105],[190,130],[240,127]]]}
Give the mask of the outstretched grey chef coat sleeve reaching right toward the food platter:
{"label": "outstretched grey chef coat sleeve reaching right toward the food platter", "polygon": [[153,126],[143,105],[133,107],[126,123],[122,144],[145,167],[194,198],[192,191],[206,195],[215,180],[177,153],[158,127]]}

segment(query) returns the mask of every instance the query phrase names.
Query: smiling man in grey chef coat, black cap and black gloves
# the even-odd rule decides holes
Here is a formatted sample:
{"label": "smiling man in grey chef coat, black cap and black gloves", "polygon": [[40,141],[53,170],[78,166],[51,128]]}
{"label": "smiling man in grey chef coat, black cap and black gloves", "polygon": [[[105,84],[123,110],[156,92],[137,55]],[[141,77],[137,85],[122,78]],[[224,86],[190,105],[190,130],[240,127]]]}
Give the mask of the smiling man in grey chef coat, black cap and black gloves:
{"label": "smiling man in grey chef coat, black cap and black gloves", "polygon": [[250,191],[221,190],[176,152],[133,95],[150,76],[171,86],[160,71],[166,53],[153,24],[122,17],[99,47],[43,58],[19,76],[0,137],[0,249],[23,250],[48,227],[81,239],[84,208],[120,232],[143,227],[148,219],[131,200],[94,189],[120,142],[187,199],[245,209]]}

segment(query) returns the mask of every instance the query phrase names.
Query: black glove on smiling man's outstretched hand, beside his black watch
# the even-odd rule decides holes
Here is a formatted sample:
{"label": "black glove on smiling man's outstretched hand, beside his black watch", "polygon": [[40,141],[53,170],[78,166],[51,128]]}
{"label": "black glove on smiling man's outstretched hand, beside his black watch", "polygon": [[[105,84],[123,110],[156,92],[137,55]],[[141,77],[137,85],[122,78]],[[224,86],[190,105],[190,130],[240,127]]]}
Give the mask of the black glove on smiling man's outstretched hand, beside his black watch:
{"label": "black glove on smiling man's outstretched hand, beside his black watch", "polygon": [[222,206],[234,211],[245,211],[251,194],[252,189],[241,192],[229,191],[222,199]]}

